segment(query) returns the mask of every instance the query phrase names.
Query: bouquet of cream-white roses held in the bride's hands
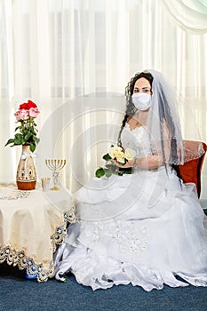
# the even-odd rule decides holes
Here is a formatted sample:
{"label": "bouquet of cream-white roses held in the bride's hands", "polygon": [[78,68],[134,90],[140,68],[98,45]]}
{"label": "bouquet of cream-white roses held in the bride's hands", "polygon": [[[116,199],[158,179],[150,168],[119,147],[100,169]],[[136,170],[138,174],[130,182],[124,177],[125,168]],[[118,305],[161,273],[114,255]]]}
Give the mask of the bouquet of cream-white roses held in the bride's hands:
{"label": "bouquet of cream-white roses held in the bride's hands", "polygon": [[96,172],[96,177],[100,178],[103,176],[110,177],[112,174],[122,176],[123,174],[131,174],[131,167],[122,168],[115,164],[113,160],[117,163],[124,165],[127,161],[132,160],[136,156],[136,152],[131,148],[124,149],[117,145],[111,145],[108,153],[102,158],[106,161],[104,167],[100,167]]}

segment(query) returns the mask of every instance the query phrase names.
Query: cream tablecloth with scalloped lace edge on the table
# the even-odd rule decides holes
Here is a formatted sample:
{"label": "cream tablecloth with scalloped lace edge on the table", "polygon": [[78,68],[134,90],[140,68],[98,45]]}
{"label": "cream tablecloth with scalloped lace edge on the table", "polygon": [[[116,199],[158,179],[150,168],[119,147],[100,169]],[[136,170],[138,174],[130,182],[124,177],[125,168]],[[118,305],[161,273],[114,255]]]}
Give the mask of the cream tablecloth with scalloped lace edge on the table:
{"label": "cream tablecloth with scalloped lace edge on the table", "polygon": [[0,187],[0,263],[37,275],[44,282],[54,275],[53,252],[76,220],[68,190],[43,192]]}

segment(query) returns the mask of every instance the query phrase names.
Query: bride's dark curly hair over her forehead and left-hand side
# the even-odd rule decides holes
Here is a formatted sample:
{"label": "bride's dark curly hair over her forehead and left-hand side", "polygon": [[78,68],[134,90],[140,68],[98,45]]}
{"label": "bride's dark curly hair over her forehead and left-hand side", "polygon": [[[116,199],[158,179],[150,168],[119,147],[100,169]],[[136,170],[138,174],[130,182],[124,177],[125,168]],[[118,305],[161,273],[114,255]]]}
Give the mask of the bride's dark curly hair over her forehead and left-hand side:
{"label": "bride's dark curly hair over her forehead and left-hand side", "polygon": [[132,76],[130,82],[127,84],[127,86],[125,88],[125,97],[126,97],[125,116],[123,117],[123,122],[122,122],[121,130],[120,130],[120,132],[118,134],[118,145],[119,146],[122,145],[121,134],[123,132],[123,127],[125,126],[128,117],[129,116],[134,116],[136,114],[137,110],[138,110],[134,106],[134,104],[132,103],[131,95],[133,94],[134,84],[136,83],[136,81],[138,79],[140,79],[142,77],[147,79],[147,81],[150,83],[150,85],[152,87],[153,76],[149,72],[147,72],[147,71],[139,72],[135,76]]}

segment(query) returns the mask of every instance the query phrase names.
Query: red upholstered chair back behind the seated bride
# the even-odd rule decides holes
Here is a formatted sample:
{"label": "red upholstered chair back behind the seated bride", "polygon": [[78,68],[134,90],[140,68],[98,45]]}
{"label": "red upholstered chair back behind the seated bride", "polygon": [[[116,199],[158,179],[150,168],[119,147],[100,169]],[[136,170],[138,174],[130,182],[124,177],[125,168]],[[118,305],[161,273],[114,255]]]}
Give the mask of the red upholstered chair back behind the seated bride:
{"label": "red upholstered chair back behind the seated bride", "polygon": [[[197,150],[200,142],[195,140],[184,140],[184,147],[186,156]],[[207,146],[203,142],[204,153],[201,157],[195,160],[188,161],[183,165],[179,165],[179,177],[183,179],[184,183],[194,182],[197,188],[197,195],[201,195],[201,171],[203,166],[203,160],[206,153]]]}

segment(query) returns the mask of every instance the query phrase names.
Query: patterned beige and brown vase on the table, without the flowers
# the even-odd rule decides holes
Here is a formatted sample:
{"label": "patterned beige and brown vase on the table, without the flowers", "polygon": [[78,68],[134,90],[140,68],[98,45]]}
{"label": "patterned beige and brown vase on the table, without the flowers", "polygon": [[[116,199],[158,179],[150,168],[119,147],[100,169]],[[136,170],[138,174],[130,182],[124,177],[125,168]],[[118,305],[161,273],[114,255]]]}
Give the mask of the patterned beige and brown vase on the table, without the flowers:
{"label": "patterned beige and brown vase on the table, without the flowers", "polygon": [[34,190],[36,188],[36,166],[34,155],[30,151],[28,145],[22,146],[16,183],[20,190]]}

